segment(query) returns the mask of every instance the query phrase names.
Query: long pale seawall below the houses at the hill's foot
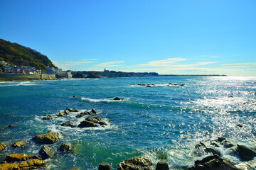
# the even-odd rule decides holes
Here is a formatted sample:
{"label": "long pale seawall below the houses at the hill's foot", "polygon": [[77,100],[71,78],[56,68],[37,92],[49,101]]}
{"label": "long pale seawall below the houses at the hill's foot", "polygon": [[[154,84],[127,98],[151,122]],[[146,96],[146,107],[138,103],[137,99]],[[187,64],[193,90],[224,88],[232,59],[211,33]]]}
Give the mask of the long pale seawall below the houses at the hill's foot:
{"label": "long pale seawall below the houses at the hill's foot", "polygon": [[49,74],[0,74],[0,81],[31,81],[55,79],[55,75]]}

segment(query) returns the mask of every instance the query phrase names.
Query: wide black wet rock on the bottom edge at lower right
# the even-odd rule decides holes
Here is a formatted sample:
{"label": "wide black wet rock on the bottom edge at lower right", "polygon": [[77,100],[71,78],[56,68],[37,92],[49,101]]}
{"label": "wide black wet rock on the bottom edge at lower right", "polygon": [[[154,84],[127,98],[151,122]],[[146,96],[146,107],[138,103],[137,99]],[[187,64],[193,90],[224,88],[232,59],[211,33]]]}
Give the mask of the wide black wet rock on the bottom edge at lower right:
{"label": "wide black wet rock on the bottom edge at lower right", "polygon": [[195,166],[189,170],[238,170],[231,162],[220,158],[218,155],[210,155],[200,161],[195,162]]}

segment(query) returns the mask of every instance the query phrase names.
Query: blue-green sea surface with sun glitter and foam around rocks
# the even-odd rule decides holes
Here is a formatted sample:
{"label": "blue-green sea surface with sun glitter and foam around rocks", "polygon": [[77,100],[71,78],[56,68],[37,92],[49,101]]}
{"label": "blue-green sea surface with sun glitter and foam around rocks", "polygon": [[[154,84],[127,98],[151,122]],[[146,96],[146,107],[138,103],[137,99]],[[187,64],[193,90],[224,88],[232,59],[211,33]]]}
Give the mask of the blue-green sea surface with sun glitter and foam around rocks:
{"label": "blue-green sea surface with sun glitter and foam around rocks", "polygon": [[[185,86],[167,86],[169,83]],[[132,84],[155,84],[137,86]],[[73,96],[76,96],[73,98]],[[121,101],[113,101],[118,96]],[[256,146],[256,77],[139,77],[63,79],[55,81],[0,82],[0,142],[6,154],[37,154],[43,145],[31,140],[49,130],[60,132],[60,142],[48,145],[55,150],[61,143],[73,145],[69,154],[57,152],[48,159],[48,169],[97,169],[108,162],[117,164],[145,155],[154,164],[166,161],[171,169],[191,167],[200,155],[195,145],[204,140],[226,137],[229,141]],[[97,110],[107,122],[99,128],[69,128],[58,124],[84,118],[78,113],[42,120],[65,108],[80,112]],[[14,128],[7,128],[8,125]],[[238,126],[238,125],[242,125]],[[28,146],[14,149],[11,144],[26,140]],[[220,151],[221,152],[221,151]],[[221,154],[235,164],[240,158]]]}

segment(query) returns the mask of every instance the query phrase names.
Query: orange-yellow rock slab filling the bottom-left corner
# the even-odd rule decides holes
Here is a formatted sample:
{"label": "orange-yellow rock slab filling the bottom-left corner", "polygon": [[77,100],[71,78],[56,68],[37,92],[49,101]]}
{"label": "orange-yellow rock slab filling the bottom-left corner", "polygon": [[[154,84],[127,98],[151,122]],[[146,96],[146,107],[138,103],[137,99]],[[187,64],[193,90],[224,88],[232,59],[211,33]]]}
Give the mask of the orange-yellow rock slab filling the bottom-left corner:
{"label": "orange-yellow rock slab filling the bottom-left corner", "polygon": [[46,167],[46,162],[39,159],[32,159],[26,162],[14,163],[14,164],[0,164],[0,169],[41,169]]}

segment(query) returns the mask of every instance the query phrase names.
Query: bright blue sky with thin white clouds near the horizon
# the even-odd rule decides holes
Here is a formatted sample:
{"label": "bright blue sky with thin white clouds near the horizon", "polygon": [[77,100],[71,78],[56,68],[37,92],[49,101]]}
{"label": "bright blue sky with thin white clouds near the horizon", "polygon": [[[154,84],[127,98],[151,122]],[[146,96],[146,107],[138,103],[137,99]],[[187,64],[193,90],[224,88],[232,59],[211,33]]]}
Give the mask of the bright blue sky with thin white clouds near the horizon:
{"label": "bright blue sky with thin white clouds near the horizon", "polygon": [[255,0],[0,0],[0,38],[63,70],[256,76]]}

